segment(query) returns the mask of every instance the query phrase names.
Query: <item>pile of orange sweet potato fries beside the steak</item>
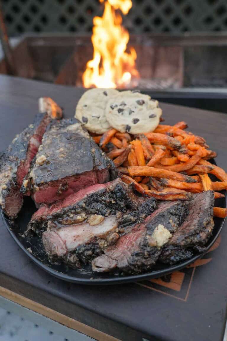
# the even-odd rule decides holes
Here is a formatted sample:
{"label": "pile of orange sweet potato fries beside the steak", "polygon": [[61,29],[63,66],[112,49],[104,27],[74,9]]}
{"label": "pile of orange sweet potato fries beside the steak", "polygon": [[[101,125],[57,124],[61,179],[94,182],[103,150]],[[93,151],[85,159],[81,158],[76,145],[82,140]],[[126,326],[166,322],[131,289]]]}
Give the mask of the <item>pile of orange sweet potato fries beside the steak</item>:
{"label": "pile of orange sweet potato fries beside the steak", "polygon": [[[227,189],[227,174],[207,161],[216,153],[204,138],[184,131],[187,127],[185,122],[160,124],[154,132],[138,135],[110,129],[93,138],[118,167],[121,179],[133,183],[142,195],[190,200],[192,193],[213,190],[215,198],[221,198],[224,195],[217,191]],[[208,173],[219,181],[211,181]],[[213,211],[216,217],[227,216],[227,209]]]}

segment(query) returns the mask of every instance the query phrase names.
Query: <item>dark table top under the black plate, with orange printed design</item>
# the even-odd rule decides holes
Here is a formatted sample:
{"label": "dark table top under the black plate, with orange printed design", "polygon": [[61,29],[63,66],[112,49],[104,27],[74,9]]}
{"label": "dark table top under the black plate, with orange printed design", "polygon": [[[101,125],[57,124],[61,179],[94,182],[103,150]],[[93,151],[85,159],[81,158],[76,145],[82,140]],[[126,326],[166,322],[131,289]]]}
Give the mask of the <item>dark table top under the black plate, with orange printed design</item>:
{"label": "dark table top under the black plate, with orange printed design", "polygon": [[[83,89],[0,76],[0,150],[33,121],[38,98],[52,97],[72,117]],[[166,124],[179,120],[206,138],[227,169],[227,115],[162,104]],[[227,308],[227,223],[212,251],[164,279],[82,286],[51,277],[21,251],[0,220],[0,285],[120,340],[221,341]]]}

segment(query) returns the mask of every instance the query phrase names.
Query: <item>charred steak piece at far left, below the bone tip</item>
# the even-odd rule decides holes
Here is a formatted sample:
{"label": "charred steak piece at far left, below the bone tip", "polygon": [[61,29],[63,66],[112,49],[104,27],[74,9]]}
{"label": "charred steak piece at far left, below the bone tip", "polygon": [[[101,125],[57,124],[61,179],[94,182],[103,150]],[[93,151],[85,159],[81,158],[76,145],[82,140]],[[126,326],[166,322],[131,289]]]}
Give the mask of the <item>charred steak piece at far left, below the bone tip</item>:
{"label": "charred steak piece at far left, below the bone tip", "polygon": [[16,135],[11,145],[0,155],[0,206],[10,218],[16,218],[22,207],[20,187],[50,120],[48,114],[36,115],[34,123]]}

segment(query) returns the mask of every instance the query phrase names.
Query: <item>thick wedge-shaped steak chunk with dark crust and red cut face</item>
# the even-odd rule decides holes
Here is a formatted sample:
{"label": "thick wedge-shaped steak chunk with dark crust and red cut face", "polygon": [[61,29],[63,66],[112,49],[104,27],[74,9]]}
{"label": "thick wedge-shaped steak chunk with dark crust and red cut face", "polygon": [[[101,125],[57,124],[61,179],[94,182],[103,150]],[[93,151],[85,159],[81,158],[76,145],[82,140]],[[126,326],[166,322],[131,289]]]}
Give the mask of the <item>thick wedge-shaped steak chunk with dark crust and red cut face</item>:
{"label": "thick wedge-shaped steak chunk with dark crust and red cut face", "polygon": [[113,162],[76,119],[50,124],[30,173],[36,203],[50,204],[117,176]]}

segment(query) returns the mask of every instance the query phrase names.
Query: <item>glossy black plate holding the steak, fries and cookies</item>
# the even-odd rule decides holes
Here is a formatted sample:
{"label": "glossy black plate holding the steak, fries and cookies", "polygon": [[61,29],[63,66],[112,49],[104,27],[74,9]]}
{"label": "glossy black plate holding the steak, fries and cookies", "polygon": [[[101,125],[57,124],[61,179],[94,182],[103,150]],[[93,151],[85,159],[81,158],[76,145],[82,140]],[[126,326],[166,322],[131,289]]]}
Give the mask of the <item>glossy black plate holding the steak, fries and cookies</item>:
{"label": "glossy black plate holding the steak, fries and cookies", "polygon": [[[222,192],[226,194],[226,191]],[[226,207],[226,195],[224,198],[215,200],[215,206],[218,207]],[[7,219],[7,217],[2,213],[4,224],[17,242],[19,247],[31,258],[31,260],[36,263],[39,267],[49,272],[51,275],[58,277],[64,281],[81,283],[81,284],[116,284],[116,283],[126,283],[126,282],[135,282],[142,281],[145,279],[157,278],[164,275],[167,275],[173,271],[180,270],[185,266],[193,263],[198,258],[201,258],[203,254],[198,253],[195,254],[189,260],[179,263],[174,266],[167,266],[164,264],[156,264],[155,267],[152,268],[152,271],[140,274],[140,275],[131,275],[131,276],[122,276],[113,273],[103,273],[97,274],[92,272],[91,267],[87,267],[83,270],[74,270],[66,265],[60,264],[51,264],[48,261],[47,255],[44,251],[42,241],[39,237],[27,238],[23,236],[23,233],[26,231],[27,224],[31,219],[32,214],[35,212],[34,202],[30,197],[25,197],[25,202],[23,208],[18,216],[18,218],[11,222]],[[211,238],[206,244],[205,253],[211,248],[218,235],[221,232],[222,226],[224,224],[225,219],[214,218],[214,228]],[[31,248],[32,253],[29,251]]]}

